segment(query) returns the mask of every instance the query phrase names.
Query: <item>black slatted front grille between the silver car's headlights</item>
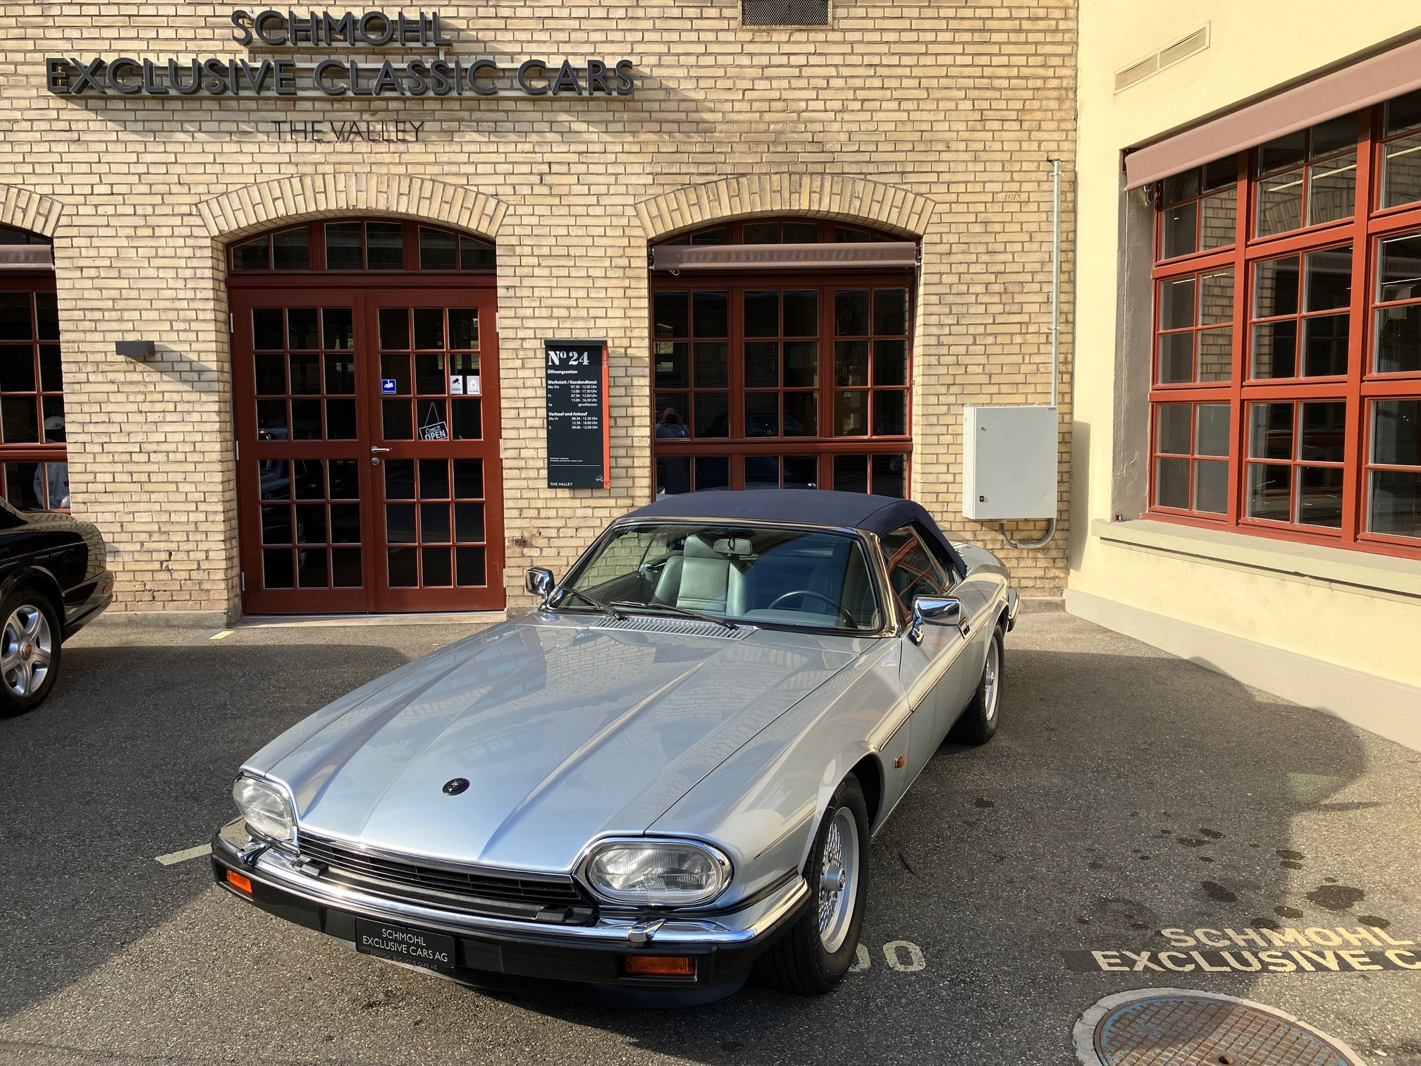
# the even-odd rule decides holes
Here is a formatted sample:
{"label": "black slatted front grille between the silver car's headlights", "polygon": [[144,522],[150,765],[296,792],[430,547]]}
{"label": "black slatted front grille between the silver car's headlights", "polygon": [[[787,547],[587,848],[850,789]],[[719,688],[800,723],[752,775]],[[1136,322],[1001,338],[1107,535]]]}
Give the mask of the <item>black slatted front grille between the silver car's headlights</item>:
{"label": "black slatted front grille between the silver car's headlights", "polygon": [[321,867],[321,877],[379,895],[543,921],[578,921],[591,915],[588,901],[567,874],[504,874],[425,866],[360,851],[310,833],[300,834],[300,846],[301,857]]}

